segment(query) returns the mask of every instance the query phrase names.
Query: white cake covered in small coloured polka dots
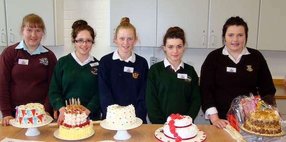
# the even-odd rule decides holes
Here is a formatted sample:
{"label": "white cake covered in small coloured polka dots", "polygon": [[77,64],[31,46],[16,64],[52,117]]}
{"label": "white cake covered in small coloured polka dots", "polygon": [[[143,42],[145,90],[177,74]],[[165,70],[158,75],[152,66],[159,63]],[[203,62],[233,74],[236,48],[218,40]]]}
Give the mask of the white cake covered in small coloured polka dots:
{"label": "white cake covered in small coloured polka dots", "polygon": [[129,126],[136,122],[133,105],[119,106],[117,104],[107,107],[106,122],[110,126]]}

